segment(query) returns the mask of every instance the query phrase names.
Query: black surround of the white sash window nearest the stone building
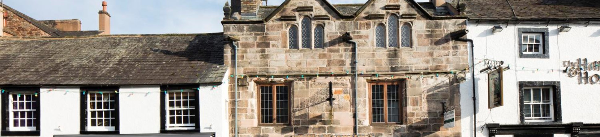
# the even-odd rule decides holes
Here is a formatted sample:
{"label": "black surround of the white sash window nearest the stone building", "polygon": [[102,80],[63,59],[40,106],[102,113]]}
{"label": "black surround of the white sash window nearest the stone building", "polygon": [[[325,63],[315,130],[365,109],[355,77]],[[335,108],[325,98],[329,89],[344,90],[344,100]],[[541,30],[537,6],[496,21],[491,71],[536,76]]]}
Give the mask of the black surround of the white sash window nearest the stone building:
{"label": "black surround of the white sash window nearest the stone building", "polygon": [[[164,92],[165,90],[167,91],[173,91],[173,90],[185,90],[185,89],[197,89],[199,88],[200,85],[178,85],[178,86],[160,86],[160,91]],[[160,133],[196,133],[196,132],[200,132],[200,120],[198,117],[198,113],[200,111],[200,108],[198,107],[200,104],[200,95],[199,95],[199,90],[195,90],[194,91],[194,105],[196,106],[196,110],[193,111],[194,115],[196,115],[196,129],[190,129],[190,130],[167,130],[166,126],[167,126],[167,119],[166,119],[166,115],[167,115],[167,111],[165,106],[167,105],[165,102],[165,98],[166,96],[164,95],[164,93],[160,93]]]}

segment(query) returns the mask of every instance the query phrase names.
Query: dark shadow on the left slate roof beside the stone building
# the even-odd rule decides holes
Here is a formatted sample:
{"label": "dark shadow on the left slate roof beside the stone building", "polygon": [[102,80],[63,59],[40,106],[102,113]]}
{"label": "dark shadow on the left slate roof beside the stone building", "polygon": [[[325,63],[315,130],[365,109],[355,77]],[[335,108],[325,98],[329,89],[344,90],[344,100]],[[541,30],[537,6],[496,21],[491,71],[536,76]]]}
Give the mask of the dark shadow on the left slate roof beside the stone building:
{"label": "dark shadow on the left slate roof beside the stone building", "polygon": [[189,44],[183,51],[164,50],[169,49],[170,45],[155,46],[151,47],[150,50],[170,56],[185,57],[188,61],[223,65],[223,45],[226,44],[223,39],[223,35],[218,34],[196,35],[190,41],[185,41]]}

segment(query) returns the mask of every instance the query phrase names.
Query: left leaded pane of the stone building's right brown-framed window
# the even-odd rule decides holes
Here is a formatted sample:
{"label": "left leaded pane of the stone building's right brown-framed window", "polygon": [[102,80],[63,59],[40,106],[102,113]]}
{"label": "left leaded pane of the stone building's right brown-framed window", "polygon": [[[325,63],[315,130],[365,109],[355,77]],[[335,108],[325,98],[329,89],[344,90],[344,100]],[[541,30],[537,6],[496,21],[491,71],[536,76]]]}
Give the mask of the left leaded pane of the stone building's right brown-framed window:
{"label": "left leaded pane of the stone building's right brown-framed window", "polygon": [[371,86],[371,108],[373,123],[385,122],[383,113],[383,85]]}

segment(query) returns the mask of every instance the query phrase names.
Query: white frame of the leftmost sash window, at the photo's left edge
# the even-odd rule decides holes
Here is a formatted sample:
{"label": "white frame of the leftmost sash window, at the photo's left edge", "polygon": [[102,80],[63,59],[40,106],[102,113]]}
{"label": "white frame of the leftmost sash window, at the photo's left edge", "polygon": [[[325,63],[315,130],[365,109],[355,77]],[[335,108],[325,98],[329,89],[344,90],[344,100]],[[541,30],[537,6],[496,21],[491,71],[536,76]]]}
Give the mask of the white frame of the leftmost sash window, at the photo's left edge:
{"label": "white frame of the leftmost sash window, at the photo's left edge", "polygon": [[[27,96],[31,96],[32,101],[17,101],[17,105],[19,104],[18,102],[23,102],[23,104],[25,104],[25,103],[32,103],[31,104],[32,108],[31,109],[26,109],[26,107],[24,107],[25,109],[17,109],[17,110],[13,109],[13,107],[12,107],[13,103],[14,103],[13,102],[13,96],[19,96],[19,95],[15,94],[15,93],[10,93],[9,97],[8,97],[8,102],[10,104],[7,107],[8,108],[8,130],[9,131],[35,131],[35,129],[36,129],[35,124],[32,124],[31,127],[20,127],[20,126],[19,127],[15,127],[14,126],[14,120],[15,119],[14,119],[14,114],[13,114],[13,112],[15,112],[15,111],[31,111],[31,112],[33,112],[33,114],[31,114],[32,118],[19,118],[19,120],[25,119],[25,121],[27,121],[27,120],[31,119],[31,120],[33,120],[35,122],[35,119],[37,119],[36,116],[39,117],[39,115],[35,115],[35,111],[37,111],[37,109],[35,109],[33,107],[33,105],[36,102],[35,99],[33,99],[33,98],[35,98],[35,97],[33,97],[34,95],[20,95],[20,96],[23,96],[23,98],[27,98]],[[17,97],[17,99],[19,99],[19,97]],[[17,108],[19,108],[19,106],[17,106]],[[25,126],[27,126],[27,124],[25,124]]]}

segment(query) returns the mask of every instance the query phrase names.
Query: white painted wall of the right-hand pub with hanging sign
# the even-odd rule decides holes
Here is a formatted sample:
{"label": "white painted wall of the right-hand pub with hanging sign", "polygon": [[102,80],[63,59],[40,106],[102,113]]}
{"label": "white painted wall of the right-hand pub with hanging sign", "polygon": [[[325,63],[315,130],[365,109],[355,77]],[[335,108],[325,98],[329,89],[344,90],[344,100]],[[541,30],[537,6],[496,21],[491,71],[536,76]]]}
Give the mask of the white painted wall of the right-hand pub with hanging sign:
{"label": "white painted wall of the right-hand pub with hanging sign", "polygon": [[[468,22],[467,37],[475,44],[475,63],[482,59],[502,60],[505,65],[511,65],[511,70],[504,74],[504,105],[488,109],[487,74],[479,74],[483,65],[475,66],[477,104],[477,121],[473,121],[472,82],[470,75],[461,84],[461,107],[463,121],[463,136],[473,136],[473,123],[477,124],[478,136],[487,136],[482,129],[486,123],[520,124],[518,81],[560,81],[562,97],[562,123],[584,122],[600,123],[600,84],[578,84],[577,78],[568,77],[562,71],[545,71],[544,69],[564,69],[562,61],[575,61],[579,58],[600,60],[600,25],[592,24],[587,27],[582,24],[570,24],[570,32],[559,33],[562,24],[533,25],[521,23],[511,24],[502,32],[493,34],[491,28],[497,24]],[[518,55],[517,28],[548,28],[550,59],[521,59]],[[517,67],[518,66],[518,67]],[[526,67],[525,70],[522,67]],[[540,68],[541,71],[536,69]],[[600,71],[590,71],[590,75],[600,74]],[[562,136],[562,135],[555,135]]]}

